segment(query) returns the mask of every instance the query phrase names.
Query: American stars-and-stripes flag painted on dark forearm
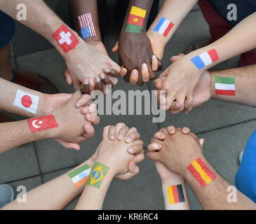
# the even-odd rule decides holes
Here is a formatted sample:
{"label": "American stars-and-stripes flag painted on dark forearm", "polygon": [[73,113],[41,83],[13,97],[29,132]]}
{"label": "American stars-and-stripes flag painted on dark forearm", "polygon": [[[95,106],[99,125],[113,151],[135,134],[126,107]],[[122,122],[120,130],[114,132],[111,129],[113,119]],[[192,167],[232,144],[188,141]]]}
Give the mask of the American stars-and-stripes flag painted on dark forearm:
{"label": "American stars-and-stripes flag painted on dark forearm", "polygon": [[90,13],[79,15],[79,26],[83,39],[96,36],[93,19]]}

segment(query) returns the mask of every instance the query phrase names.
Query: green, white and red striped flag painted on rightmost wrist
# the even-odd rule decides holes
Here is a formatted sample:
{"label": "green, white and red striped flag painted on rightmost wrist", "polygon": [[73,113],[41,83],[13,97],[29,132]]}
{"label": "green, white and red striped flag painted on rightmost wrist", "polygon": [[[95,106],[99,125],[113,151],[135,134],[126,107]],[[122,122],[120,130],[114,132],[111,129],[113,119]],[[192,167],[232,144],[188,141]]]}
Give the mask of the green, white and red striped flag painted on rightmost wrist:
{"label": "green, white and red striped flag painted on rightmost wrist", "polygon": [[235,96],[236,78],[215,76],[215,94]]}

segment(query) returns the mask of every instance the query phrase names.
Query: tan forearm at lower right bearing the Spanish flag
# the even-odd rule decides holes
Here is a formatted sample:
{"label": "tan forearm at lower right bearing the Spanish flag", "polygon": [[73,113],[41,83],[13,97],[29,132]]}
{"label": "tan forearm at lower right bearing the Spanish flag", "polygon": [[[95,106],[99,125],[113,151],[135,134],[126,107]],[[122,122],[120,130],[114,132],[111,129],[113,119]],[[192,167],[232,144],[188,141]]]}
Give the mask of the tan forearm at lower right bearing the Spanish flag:
{"label": "tan forearm at lower right bearing the Spanish flag", "polygon": [[192,169],[191,171],[187,169],[184,172],[184,178],[196,194],[203,209],[256,209],[256,204],[238,190],[236,192],[236,202],[229,201],[228,195],[230,192],[228,191],[228,187],[230,184],[217,174],[215,169],[210,166],[206,159],[202,158],[202,160],[206,167],[208,167],[208,171],[206,170],[206,167],[203,167],[201,173],[206,172],[207,174],[202,175],[197,173],[197,175],[195,175],[196,168],[194,168],[194,171]]}

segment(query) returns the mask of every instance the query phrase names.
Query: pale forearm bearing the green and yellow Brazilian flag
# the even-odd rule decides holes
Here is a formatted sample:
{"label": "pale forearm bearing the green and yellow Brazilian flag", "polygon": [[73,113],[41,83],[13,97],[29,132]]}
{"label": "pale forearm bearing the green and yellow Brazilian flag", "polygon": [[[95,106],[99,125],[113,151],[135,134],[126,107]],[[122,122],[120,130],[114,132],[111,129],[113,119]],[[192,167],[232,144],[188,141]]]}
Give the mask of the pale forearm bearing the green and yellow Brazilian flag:
{"label": "pale forearm bearing the green and yellow Brazilian flag", "polygon": [[[103,168],[105,169],[105,168]],[[90,174],[90,181],[88,181],[86,188],[84,188],[83,193],[79,199],[79,202],[76,204],[76,210],[101,210],[102,204],[105,200],[105,196],[107,194],[107,190],[114,179],[115,174],[111,171],[107,171],[107,174],[104,174],[104,170],[102,171],[103,179],[100,181],[93,182],[93,172],[95,171],[95,167],[92,169]],[[97,173],[98,174],[98,173]],[[97,174],[95,174],[95,178],[97,178]]]}

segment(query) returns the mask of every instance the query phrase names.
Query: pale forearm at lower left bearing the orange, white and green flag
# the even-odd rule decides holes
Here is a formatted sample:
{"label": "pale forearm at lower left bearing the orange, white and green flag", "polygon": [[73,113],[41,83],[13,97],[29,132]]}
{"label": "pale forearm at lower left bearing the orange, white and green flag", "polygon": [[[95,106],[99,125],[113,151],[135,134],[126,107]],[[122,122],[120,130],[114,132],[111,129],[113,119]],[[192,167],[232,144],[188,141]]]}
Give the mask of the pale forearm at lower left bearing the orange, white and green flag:
{"label": "pale forearm at lower left bearing the orange, white and green flag", "polygon": [[70,174],[79,168],[88,165],[93,166],[93,160],[90,158],[83,164],[75,167],[69,172],[58,176],[58,178],[48,181],[43,185],[30,190],[27,193],[27,202],[19,203],[14,200],[6,205],[3,209],[26,209],[26,210],[60,210],[65,209],[72,201],[81,195],[84,186],[86,185],[86,178],[80,181],[81,184],[75,184],[70,178]]}

